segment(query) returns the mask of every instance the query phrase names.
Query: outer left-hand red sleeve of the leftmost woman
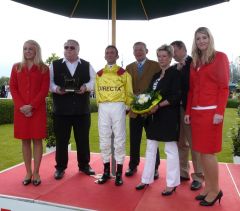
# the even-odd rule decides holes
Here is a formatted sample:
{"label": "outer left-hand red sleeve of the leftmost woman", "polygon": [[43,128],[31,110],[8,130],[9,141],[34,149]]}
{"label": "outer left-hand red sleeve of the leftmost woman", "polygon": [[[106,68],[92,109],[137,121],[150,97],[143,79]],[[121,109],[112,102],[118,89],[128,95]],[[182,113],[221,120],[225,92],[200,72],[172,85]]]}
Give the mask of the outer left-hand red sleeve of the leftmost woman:
{"label": "outer left-hand red sleeve of the leftmost woman", "polygon": [[13,98],[14,106],[19,110],[23,105],[25,105],[24,100],[19,94],[18,88],[18,77],[17,77],[17,64],[13,65],[12,72],[10,76],[10,92]]}

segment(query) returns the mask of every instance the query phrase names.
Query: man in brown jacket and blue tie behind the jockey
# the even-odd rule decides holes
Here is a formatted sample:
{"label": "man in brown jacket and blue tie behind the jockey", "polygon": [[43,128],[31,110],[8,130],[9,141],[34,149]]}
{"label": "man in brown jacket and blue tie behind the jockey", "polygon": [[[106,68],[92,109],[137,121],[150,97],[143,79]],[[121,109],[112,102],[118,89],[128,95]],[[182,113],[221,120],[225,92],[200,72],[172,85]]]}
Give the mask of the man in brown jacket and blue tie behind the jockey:
{"label": "man in brown jacket and blue tie behind the jockey", "polygon": [[[136,61],[127,65],[126,71],[132,76],[133,93],[139,95],[146,91],[155,73],[160,71],[157,62],[147,59],[148,49],[143,42],[136,42],[133,45],[133,54]],[[140,162],[140,145],[142,131],[145,129],[145,118],[130,111],[130,162],[125,175],[130,177],[137,171]],[[159,177],[158,166],[160,164],[159,150],[156,157],[154,179]]]}

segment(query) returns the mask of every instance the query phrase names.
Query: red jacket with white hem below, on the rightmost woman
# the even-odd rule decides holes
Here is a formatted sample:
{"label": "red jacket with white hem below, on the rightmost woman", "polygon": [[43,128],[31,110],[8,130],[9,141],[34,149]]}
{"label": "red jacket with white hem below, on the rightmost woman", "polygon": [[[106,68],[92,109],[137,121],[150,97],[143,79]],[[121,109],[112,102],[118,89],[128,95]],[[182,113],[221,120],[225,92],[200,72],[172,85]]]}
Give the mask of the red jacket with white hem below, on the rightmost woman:
{"label": "red jacket with white hem below, on the rightmost woman", "polygon": [[195,106],[217,105],[216,113],[223,115],[229,94],[229,61],[222,52],[216,52],[210,64],[190,69],[190,86],[186,114]]}

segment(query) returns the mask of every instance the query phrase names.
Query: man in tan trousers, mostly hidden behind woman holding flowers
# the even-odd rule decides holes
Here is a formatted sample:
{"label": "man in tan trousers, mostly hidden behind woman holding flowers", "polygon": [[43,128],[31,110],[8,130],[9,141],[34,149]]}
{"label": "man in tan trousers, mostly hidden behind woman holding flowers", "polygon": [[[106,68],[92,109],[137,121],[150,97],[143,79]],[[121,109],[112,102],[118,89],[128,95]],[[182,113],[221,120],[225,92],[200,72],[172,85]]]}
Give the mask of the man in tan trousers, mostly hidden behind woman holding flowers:
{"label": "man in tan trousers, mostly hidden behind woman holding flowers", "polygon": [[178,62],[177,69],[181,73],[181,108],[180,108],[180,137],[178,142],[179,160],[180,160],[180,179],[181,181],[190,180],[189,177],[189,151],[191,151],[194,173],[191,174],[191,190],[198,190],[202,187],[203,171],[198,152],[192,150],[192,136],[190,125],[184,123],[184,115],[187,105],[187,95],[189,90],[189,73],[192,58],[187,55],[187,49],[182,41],[171,43],[174,48],[174,59]]}

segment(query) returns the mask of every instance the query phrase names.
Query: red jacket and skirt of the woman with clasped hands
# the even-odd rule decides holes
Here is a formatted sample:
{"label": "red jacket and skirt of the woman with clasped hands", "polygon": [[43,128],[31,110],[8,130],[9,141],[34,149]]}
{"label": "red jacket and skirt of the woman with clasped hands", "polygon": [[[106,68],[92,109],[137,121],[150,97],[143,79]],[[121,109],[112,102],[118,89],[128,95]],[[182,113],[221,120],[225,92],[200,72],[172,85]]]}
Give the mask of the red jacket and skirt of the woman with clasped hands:
{"label": "red jacket and skirt of the woman with clasped hands", "polygon": [[[42,73],[38,66],[30,70],[23,67],[17,70],[18,64],[12,68],[10,91],[14,102],[14,137],[18,139],[42,139],[46,137],[46,103],[49,90],[49,70]],[[20,107],[31,104],[33,115],[25,117]]]}

